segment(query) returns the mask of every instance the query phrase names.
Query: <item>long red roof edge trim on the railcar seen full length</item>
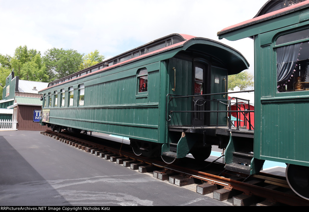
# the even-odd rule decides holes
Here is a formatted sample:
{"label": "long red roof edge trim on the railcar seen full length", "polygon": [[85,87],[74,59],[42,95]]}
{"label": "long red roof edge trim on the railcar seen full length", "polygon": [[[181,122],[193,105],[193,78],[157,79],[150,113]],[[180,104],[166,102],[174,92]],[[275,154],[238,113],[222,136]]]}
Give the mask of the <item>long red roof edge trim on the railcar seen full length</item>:
{"label": "long red roof edge trim on the railcar seen full length", "polygon": [[[309,1],[309,0],[308,0],[308,1]],[[85,74],[85,75],[83,75],[83,76],[76,77],[76,78],[74,78],[74,79],[71,79],[71,80],[68,80],[68,81],[65,81],[65,82],[61,82],[61,83],[59,83],[59,84],[57,84],[57,85],[53,85],[53,86],[47,87],[47,88],[45,88],[45,89],[40,90],[38,93],[40,93],[41,91],[44,91],[44,90],[46,90],[46,89],[52,88],[52,87],[54,87],[54,86],[61,85],[61,84],[63,84],[63,83],[67,83],[67,82],[70,82],[70,81],[74,81],[74,80],[77,80],[77,79],[81,79],[81,78],[86,77],[86,76],[90,76],[90,75],[92,75],[92,74],[96,74],[96,73],[99,73],[99,72],[106,71],[106,70],[108,70],[108,69],[111,69],[111,68],[113,68],[113,67],[119,66],[119,65],[121,65],[121,64],[131,62],[132,60],[141,59],[141,58],[143,58],[143,57],[150,56],[150,55],[152,55],[152,54],[155,54],[155,53],[158,53],[158,52],[161,52],[161,51],[170,49],[170,48],[175,48],[175,47],[181,46],[181,45],[183,45],[185,42],[187,42],[189,39],[195,38],[195,36],[192,36],[192,35],[186,35],[186,34],[179,34],[179,35],[181,35],[181,36],[182,36],[184,39],[186,39],[186,40],[185,40],[185,41],[182,41],[182,42],[180,42],[180,43],[177,43],[177,44],[173,44],[173,45],[170,45],[170,46],[167,46],[167,47],[164,47],[164,48],[160,48],[160,49],[158,49],[158,50],[156,50],[156,51],[153,51],[153,52],[148,52],[148,53],[146,53],[146,54],[143,54],[143,55],[140,55],[140,56],[131,58],[131,59],[129,59],[129,60],[122,61],[122,62],[120,62],[120,63],[117,63],[117,64],[114,64],[114,65],[108,66],[108,67],[106,67],[106,68],[97,70],[97,71],[95,71],[95,72],[88,73],[88,74]]]}

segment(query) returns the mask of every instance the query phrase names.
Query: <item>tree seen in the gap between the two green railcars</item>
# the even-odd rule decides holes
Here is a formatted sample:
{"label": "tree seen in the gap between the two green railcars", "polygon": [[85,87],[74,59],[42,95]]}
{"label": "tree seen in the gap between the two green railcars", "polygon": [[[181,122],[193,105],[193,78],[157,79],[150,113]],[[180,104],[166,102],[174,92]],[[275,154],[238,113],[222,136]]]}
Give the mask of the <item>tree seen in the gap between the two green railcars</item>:
{"label": "tree seen in the gap between the two green railcars", "polygon": [[240,90],[252,89],[252,87],[254,87],[254,76],[248,71],[230,75],[228,79],[229,90],[233,90],[236,86],[238,86]]}

